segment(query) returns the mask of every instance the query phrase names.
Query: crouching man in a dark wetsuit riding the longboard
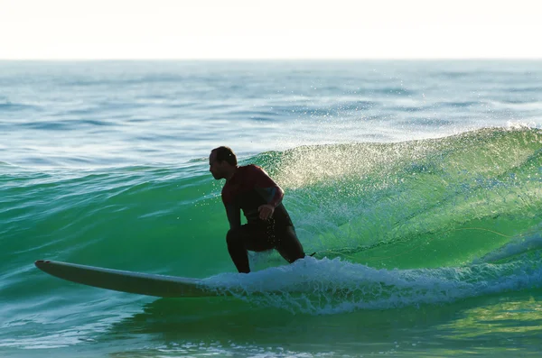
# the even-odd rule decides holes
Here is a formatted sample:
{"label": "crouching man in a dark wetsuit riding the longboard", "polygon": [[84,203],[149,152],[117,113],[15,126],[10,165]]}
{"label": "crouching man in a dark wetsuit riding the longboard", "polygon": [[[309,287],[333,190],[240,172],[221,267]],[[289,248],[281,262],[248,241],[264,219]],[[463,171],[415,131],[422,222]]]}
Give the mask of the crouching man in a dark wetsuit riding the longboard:
{"label": "crouching man in a dark wetsuit riding the longboard", "polygon": [[[250,272],[248,250],[276,249],[287,262],[304,258],[294,224],[282,204],[285,192],[257,165],[238,166],[229,147],[210,151],[209,170],[214,179],[226,179],[222,202],[226,207],[229,231],[228,252],[239,272]],[[240,210],[248,224],[241,225]]]}

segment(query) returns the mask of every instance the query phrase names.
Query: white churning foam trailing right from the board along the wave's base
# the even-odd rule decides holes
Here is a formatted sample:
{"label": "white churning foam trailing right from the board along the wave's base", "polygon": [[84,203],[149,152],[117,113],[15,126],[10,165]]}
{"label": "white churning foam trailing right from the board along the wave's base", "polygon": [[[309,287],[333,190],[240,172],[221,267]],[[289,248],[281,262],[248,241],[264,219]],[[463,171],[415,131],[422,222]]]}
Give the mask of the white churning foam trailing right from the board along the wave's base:
{"label": "white churning foam trailing right from the board along the wave's base", "polygon": [[224,273],[211,287],[258,306],[335,314],[452,302],[506,290],[542,287],[537,262],[490,263],[419,270],[373,269],[340,259],[307,257],[249,274]]}

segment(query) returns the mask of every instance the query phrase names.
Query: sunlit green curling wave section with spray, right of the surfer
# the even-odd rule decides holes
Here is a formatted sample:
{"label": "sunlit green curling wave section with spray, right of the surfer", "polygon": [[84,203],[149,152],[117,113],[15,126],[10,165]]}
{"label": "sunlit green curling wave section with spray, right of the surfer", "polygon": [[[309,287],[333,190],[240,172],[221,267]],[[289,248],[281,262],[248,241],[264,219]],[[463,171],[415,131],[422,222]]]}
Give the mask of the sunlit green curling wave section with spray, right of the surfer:
{"label": "sunlit green curling wave section with spray, right of the surfer", "polygon": [[487,129],[444,139],[296,148],[261,158],[322,254],[371,266],[462,265],[539,233],[542,137]]}

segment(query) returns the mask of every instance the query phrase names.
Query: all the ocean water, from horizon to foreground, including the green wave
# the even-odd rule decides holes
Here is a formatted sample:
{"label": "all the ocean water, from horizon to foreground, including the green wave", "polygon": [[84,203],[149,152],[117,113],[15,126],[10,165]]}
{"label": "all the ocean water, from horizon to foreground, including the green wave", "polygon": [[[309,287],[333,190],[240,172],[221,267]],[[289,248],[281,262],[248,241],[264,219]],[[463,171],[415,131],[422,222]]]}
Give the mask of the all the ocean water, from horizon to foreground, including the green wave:
{"label": "all the ocean water, from horizon to foreground, including the green wave", "polygon": [[[541,84],[542,61],[0,62],[0,356],[538,356]],[[314,257],[235,271],[219,145],[285,189]]]}

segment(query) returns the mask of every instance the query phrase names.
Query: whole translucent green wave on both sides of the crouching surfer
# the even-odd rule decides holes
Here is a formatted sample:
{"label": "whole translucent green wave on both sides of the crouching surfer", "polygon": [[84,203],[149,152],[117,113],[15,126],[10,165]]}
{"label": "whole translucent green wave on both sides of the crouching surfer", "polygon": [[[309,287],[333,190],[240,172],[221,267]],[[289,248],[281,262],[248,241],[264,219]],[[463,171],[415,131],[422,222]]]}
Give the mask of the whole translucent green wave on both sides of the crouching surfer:
{"label": "whole translucent green wave on both sides of the crouching surfer", "polygon": [[[292,265],[288,270],[297,274],[287,280],[280,276],[284,270],[272,268],[285,265],[276,253],[251,254],[253,269],[266,272],[254,280],[280,276],[285,286],[279,289],[287,292],[300,277],[325,279],[331,286],[323,285],[321,294],[328,298],[333,280],[343,291],[376,285],[374,292],[384,292],[368,296],[354,289],[358,293],[344,296],[333,309],[350,298],[363,301],[360,308],[397,306],[391,297],[403,297],[406,305],[432,301],[425,287],[406,289],[408,298],[399,289],[403,293],[397,296],[397,280],[434,278],[441,286],[453,280],[453,291],[460,292],[455,298],[489,293],[484,282],[506,282],[502,290],[541,285],[539,130],[493,128],[416,142],[306,146],[261,153],[242,164],[248,162],[262,166],[285,189],[285,207],[305,252],[325,258]],[[2,301],[34,297],[36,287],[73,289],[37,272],[38,259],[233,280],[223,273],[235,269],[225,243],[222,184],[210,176],[207,159],[168,168],[5,167]],[[381,269],[392,276],[384,283],[378,279]],[[335,276],[321,280],[322,270]],[[416,272],[416,279],[406,279],[408,272]],[[360,285],[356,275],[372,283]],[[23,284],[29,278],[33,289]],[[262,302],[261,296],[254,299]]]}

